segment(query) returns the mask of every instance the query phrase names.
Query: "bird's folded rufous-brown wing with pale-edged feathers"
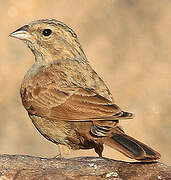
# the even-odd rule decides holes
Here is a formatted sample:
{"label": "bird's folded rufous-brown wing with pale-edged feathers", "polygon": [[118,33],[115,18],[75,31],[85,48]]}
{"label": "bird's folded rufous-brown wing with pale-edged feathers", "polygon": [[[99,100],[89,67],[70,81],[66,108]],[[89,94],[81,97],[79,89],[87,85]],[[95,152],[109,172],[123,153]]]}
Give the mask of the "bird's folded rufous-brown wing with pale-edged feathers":
{"label": "bird's folded rufous-brown wing with pale-edged feathers", "polygon": [[73,83],[63,71],[45,68],[21,86],[29,114],[66,121],[117,120],[131,117],[94,89]]}

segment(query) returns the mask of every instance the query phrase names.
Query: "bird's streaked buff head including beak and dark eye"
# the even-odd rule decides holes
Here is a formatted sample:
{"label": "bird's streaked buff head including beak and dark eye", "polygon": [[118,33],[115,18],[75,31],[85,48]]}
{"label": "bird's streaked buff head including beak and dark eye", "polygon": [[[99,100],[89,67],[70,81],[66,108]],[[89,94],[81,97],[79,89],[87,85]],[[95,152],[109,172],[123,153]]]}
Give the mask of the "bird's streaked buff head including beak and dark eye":
{"label": "bird's streaked buff head including beak and dark eye", "polygon": [[77,35],[67,25],[55,19],[33,21],[10,36],[23,40],[34,53],[36,61],[49,63],[67,58],[86,61]]}

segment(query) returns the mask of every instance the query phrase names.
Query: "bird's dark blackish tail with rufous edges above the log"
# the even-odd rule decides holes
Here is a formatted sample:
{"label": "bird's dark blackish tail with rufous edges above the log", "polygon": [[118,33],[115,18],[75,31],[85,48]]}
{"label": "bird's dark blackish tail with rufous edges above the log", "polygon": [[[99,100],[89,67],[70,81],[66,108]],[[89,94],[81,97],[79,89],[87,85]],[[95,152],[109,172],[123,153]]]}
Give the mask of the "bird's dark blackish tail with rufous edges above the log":
{"label": "bird's dark blackish tail with rufous edges above the log", "polygon": [[105,144],[139,161],[154,161],[161,157],[155,150],[126,134],[113,133]]}

